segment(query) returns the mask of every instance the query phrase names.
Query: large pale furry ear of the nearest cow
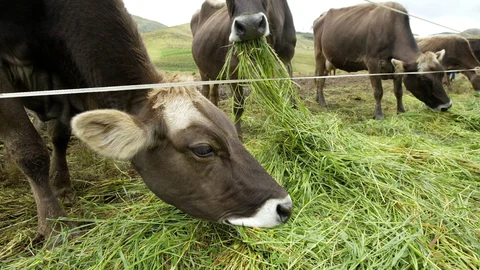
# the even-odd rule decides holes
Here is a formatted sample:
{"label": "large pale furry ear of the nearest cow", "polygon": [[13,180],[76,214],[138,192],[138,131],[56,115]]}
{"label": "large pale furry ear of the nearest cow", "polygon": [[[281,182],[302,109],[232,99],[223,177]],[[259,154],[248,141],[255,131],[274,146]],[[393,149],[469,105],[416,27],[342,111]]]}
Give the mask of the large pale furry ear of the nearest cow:
{"label": "large pale furry ear of the nearest cow", "polygon": [[93,110],[72,119],[72,131],[96,152],[129,160],[148,145],[145,125],[117,110]]}

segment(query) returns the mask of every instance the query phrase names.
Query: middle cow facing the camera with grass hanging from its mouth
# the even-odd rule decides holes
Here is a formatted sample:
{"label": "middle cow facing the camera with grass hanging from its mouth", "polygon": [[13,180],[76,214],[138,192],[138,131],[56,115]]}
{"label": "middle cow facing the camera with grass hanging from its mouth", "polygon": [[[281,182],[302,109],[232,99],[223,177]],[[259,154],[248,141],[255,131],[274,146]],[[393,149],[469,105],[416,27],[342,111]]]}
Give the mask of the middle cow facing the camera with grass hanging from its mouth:
{"label": "middle cow facing the camera with grass hanging from its mouth", "polygon": [[[226,3],[206,0],[190,22],[193,34],[192,54],[202,80],[216,80],[225,63],[228,45],[266,37],[291,75],[291,63],[297,38],[293,18],[286,0],[227,0]],[[237,60],[231,62],[234,70]],[[235,79],[236,74],[230,78]],[[234,92],[234,114],[237,131],[241,133],[244,94],[238,84]],[[205,85],[202,93],[218,105],[218,85]]]}

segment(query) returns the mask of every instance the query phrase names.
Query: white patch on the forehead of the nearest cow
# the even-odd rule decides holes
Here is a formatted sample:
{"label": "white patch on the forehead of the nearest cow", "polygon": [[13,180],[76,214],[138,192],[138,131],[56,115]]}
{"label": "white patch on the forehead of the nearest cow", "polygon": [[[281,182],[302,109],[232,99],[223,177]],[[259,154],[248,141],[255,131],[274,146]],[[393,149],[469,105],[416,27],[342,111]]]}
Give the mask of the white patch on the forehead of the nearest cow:
{"label": "white patch on the forehead of the nearest cow", "polygon": [[164,119],[168,131],[175,133],[192,125],[207,123],[208,119],[195,108],[192,100],[177,96],[165,104]]}

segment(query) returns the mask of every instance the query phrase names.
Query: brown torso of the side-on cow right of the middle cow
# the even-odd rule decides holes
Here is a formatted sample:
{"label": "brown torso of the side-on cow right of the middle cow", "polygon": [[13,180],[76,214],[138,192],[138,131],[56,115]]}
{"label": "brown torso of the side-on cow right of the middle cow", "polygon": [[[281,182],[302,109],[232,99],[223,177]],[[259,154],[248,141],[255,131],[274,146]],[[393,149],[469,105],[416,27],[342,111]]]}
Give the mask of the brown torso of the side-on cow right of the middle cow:
{"label": "brown torso of the side-on cow right of the middle cow", "polygon": [[[383,5],[406,13],[398,3]],[[418,51],[408,16],[374,4],[330,9],[316,20],[314,33],[317,48],[346,71],[367,69],[365,63],[373,57],[403,59],[405,53],[411,54],[404,48]]]}

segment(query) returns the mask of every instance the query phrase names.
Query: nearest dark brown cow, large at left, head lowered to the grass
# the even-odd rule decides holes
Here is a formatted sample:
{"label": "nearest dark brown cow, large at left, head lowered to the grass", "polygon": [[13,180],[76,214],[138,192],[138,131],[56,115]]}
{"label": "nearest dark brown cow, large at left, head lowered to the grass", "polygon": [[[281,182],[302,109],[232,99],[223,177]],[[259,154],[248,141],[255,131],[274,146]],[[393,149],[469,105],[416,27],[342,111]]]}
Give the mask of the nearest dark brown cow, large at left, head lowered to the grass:
{"label": "nearest dark brown cow, large at left, head lowered to the grass", "polygon": [[[119,0],[0,0],[0,60],[0,93],[163,80]],[[49,219],[66,213],[49,184],[47,147],[24,106],[56,119],[53,158],[63,161],[50,175],[66,170],[70,119],[88,111],[73,118],[74,133],[106,156],[131,160],[155,194],[186,213],[259,227],[288,219],[287,192],[247,152],[224,113],[195,90],[149,92],[0,99],[0,137],[28,177],[40,235],[57,229]],[[70,188],[68,173],[57,181]]]}

